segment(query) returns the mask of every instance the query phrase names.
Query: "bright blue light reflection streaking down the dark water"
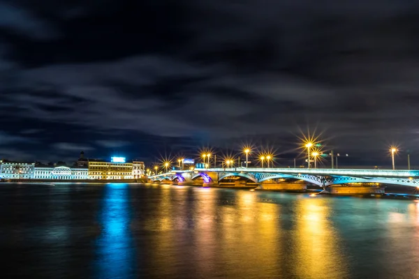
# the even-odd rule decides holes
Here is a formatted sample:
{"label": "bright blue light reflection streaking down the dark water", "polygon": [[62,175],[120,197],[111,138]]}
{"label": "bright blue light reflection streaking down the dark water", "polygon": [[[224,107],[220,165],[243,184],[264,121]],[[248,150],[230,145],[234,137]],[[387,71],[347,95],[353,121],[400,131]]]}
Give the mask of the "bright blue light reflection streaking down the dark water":
{"label": "bright blue light reflection streaking down the dark water", "polygon": [[96,278],[134,278],[135,250],[131,236],[129,188],[126,184],[104,186],[98,216],[101,236],[96,242]]}

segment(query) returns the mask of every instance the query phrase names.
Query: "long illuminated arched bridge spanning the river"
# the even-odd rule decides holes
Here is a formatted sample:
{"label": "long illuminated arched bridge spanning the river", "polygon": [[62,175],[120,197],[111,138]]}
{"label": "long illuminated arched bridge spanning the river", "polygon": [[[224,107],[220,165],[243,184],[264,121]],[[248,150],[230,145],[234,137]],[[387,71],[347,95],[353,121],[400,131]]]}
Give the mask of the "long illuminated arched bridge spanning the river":
{"label": "long illuminated arched bridge spanning the river", "polygon": [[379,183],[419,187],[418,170],[392,169],[196,168],[173,170],[149,176],[149,179],[155,182],[176,181],[179,184],[193,183],[196,179],[203,179],[204,186],[217,186],[223,179],[234,177],[242,177],[256,183],[259,188],[263,188],[264,182],[277,179],[305,181],[323,188],[347,183]]}

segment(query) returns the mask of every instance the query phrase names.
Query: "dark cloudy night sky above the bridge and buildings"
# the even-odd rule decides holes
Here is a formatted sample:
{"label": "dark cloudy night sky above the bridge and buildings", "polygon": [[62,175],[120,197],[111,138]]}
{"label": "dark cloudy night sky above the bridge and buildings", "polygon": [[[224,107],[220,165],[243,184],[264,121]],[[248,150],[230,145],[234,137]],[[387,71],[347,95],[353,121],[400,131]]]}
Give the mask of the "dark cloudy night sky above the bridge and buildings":
{"label": "dark cloudy night sky above the bridge and buildings", "polygon": [[[297,135],[418,155],[419,2],[0,0],[0,156],[154,160]],[[361,160],[360,160],[361,162]],[[286,164],[286,163],[284,163]]]}

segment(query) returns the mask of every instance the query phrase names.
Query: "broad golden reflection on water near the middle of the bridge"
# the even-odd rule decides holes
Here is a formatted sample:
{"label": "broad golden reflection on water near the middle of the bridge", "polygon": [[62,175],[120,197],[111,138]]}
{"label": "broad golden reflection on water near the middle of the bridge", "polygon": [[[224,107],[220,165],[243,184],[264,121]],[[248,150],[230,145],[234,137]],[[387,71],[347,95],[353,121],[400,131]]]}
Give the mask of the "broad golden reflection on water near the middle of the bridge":
{"label": "broad golden reflection on water near the middle of the bridge", "polygon": [[261,274],[281,269],[281,262],[278,261],[278,255],[281,255],[278,249],[281,242],[278,204],[260,202],[255,193],[237,191],[234,198],[218,206],[217,210],[221,210],[222,224],[217,239],[217,257],[221,262],[230,262],[230,268],[223,270],[223,278],[241,278],[244,275],[261,278]]}

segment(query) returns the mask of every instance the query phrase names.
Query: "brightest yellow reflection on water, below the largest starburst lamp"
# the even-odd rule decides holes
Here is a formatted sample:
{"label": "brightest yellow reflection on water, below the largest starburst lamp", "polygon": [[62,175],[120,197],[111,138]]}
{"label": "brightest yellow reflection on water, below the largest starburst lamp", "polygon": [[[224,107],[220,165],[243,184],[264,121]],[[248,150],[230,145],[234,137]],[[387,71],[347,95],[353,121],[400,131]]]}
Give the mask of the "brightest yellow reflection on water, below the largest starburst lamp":
{"label": "brightest yellow reflection on water, below the largest starburst lamp", "polygon": [[328,220],[330,201],[305,198],[297,204],[295,273],[298,278],[342,278],[348,267],[339,234]]}

